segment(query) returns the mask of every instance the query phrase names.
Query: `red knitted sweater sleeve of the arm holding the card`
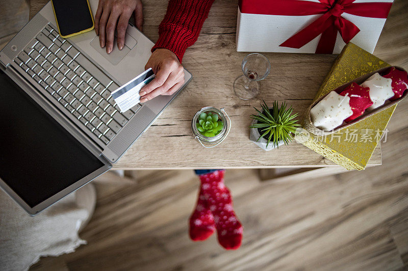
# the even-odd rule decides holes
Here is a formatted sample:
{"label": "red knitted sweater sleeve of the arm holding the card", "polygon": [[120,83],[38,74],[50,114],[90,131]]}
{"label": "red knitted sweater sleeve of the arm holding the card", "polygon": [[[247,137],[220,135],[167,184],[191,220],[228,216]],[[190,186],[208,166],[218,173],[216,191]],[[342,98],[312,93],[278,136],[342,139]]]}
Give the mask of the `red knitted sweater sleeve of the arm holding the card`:
{"label": "red knitted sweater sleeve of the arm holding the card", "polygon": [[170,0],[159,25],[159,40],[151,48],[166,48],[182,62],[187,47],[194,44],[214,0]]}

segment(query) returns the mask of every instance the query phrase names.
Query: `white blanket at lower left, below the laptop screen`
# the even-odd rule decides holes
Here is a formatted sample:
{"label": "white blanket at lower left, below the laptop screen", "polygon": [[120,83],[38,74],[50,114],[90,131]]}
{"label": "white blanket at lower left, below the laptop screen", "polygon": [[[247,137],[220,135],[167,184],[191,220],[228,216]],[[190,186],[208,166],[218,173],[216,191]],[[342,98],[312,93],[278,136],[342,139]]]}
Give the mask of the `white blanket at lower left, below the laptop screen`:
{"label": "white blanket at lower left, below the laptop screen", "polygon": [[30,217],[0,190],[0,270],[27,270],[42,256],[71,253],[86,244],[78,231],[94,204],[95,191],[88,184]]}

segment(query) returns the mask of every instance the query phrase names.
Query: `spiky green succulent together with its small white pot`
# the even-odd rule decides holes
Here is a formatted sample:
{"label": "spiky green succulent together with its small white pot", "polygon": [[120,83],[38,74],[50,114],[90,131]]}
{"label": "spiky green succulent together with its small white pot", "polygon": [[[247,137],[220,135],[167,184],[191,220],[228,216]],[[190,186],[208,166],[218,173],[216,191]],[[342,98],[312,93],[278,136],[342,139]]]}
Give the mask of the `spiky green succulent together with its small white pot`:
{"label": "spiky green succulent together with its small white pot", "polygon": [[254,109],[258,114],[252,114],[253,119],[250,128],[249,139],[264,150],[271,150],[293,140],[292,133],[296,131],[296,114],[292,114],[293,108],[287,109],[286,102],[279,108],[278,102],[274,101],[272,107],[264,103],[261,110]]}

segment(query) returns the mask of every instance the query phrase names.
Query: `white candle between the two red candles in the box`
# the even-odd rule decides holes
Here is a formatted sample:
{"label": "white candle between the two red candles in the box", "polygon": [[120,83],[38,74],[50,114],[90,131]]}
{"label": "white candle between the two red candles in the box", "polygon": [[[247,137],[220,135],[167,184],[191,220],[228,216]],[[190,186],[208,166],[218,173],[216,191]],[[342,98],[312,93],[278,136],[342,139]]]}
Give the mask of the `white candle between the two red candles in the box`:
{"label": "white candle between the two red candles in the box", "polygon": [[369,94],[373,105],[367,108],[367,110],[373,110],[383,105],[388,99],[394,96],[394,92],[391,87],[392,80],[384,78],[379,73],[374,73],[364,83],[363,87],[370,88]]}

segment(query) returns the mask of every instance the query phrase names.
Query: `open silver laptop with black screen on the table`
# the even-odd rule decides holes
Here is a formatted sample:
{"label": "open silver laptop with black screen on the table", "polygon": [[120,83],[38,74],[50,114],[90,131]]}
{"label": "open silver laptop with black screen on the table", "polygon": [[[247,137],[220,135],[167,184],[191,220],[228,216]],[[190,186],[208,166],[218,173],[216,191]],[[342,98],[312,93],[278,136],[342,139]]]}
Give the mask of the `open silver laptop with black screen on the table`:
{"label": "open silver laptop with black screen on the table", "polygon": [[129,24],[108,55],[94,31],[63,39],[56,26],[48,3],[0,51],[0,187],[30,215],[108,171],[192,78],[120,112],[111,92],[144,72],[154,43]]}

